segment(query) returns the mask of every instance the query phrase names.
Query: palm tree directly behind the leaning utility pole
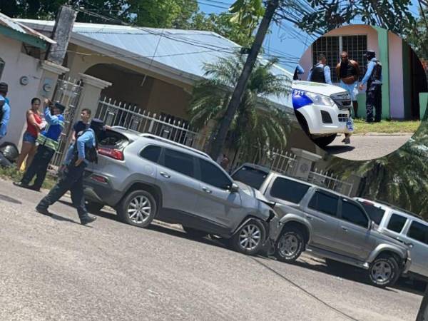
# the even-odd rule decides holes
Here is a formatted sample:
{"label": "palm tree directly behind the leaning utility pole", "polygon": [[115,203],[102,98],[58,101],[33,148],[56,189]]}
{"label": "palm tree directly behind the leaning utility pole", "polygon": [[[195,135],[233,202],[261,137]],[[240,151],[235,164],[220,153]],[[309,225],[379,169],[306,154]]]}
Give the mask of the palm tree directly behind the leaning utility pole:
{"label": "palm tree directly behind the leaning utility pole", "polygon": [[[218,124],[228,108],[232,88],[238,81],[245,59],[237,55],[219,58],[216,63],[206,63],[205,79],[193,88],[188,113],[195,128],[204,128],[210,120],[215,126],[209,146],[218,133]],[[285,148],[289,119],[281,109],[268,100],[269,96],[287,96],[290,80],[272,73],[276,59],[258,61],[251,73],[243,99],[233,117],[228,132],[228,146],[238,146],[244,156],[255,155],[266,146]]]}

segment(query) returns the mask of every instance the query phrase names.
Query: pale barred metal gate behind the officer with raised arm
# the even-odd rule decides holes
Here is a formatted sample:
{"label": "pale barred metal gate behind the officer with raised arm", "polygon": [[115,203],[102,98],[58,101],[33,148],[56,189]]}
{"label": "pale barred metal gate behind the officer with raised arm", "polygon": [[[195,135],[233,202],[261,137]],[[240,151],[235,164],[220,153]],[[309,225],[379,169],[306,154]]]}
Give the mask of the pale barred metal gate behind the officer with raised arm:
{"label": "pale barred metal gate behind the officer with raised arm", "polygon": [[63,112],[64,128],[61,136],[58,139],[58,150],[54,154],[50,163],[51,169],[56,170],[63,162],[63,158],[68,149],[71,141],[71,134],[73,133],[73,122],[76,118],[76,110],[78,107],[78,100],[81,96],[82,82],[80,80],[64,78],[58,79],[54,92],[54,103],[61,103],[66,106]]}

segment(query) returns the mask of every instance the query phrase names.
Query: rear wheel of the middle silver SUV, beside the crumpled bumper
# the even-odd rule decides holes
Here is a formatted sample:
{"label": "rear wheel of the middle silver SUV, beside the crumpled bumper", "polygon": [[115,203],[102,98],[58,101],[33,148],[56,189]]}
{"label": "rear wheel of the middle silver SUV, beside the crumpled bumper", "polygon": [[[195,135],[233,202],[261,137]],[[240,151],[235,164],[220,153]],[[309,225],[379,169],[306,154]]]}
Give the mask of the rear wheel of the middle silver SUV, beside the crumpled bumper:
{"label": "rear wheel of the middle silver SUV, beside the crumpled bumper", "polygon": [[275,243],[275,258],[293,263],[305,250],[305,236],[298,228],[284,228]]}

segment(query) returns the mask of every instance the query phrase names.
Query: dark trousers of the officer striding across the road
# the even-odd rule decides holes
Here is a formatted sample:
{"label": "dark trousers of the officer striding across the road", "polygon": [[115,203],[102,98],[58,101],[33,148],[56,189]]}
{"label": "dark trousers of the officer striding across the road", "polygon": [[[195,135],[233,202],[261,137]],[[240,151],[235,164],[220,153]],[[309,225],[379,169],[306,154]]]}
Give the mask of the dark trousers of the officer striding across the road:
{"label": "dark trousers of the officer striding across the road", "polygon": [[58,183],[51,188],[49,194],[39,202],[39,207],[48,208],[59,200],[68,190],[71,192],[73,206],[77,209],[78,217],[85,218],[88,211],[85,207],[85,196],[83,195],[83,171],[86,165],[81,163],[78,166],[68,165],[63,171]]}

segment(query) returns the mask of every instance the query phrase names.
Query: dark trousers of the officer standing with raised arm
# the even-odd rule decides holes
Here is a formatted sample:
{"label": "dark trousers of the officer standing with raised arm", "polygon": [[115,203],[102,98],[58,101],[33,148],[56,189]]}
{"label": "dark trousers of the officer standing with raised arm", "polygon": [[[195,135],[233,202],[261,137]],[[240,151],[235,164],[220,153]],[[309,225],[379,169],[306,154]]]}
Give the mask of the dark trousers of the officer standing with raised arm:
{"label": "dark trousers of the officer standing with raised arm", "polygon": [[36,180],[34,180],[34,188],[40,189],[41,185],[46,178],[46,172],[48,170],[48,165],[54,156],[55,151],[52,148],[46,146],[39,146],[37,148],[36,155],[34,155],[33,161],[31,162],[29,168],[22,176],[21,183],[29,185],[31,180],[33,180],[36,175]]}

